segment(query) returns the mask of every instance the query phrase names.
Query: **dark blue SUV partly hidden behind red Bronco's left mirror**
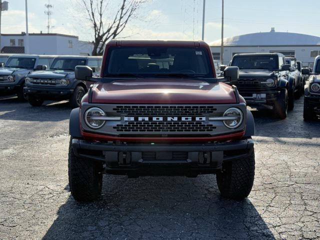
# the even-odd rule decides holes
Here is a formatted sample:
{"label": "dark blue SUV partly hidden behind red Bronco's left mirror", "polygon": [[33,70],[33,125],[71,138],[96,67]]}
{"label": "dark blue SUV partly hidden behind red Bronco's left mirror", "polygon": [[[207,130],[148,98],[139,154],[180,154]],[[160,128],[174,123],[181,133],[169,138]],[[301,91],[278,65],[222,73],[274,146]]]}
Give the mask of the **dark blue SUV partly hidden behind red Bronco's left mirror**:
{"label": "dark blue SUV partly hidden behind red Bronco's left mirror", "polygon": [[92,82],[74,77],[76,65],[88,65],[98,76],[101,56],[58,56],[50,69],[31,72],[27,75],[24,93],[32,106],[42,105],[44,100],[69,99],[72,108],[78,107],[82,96]]}

